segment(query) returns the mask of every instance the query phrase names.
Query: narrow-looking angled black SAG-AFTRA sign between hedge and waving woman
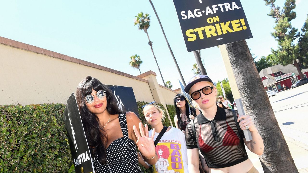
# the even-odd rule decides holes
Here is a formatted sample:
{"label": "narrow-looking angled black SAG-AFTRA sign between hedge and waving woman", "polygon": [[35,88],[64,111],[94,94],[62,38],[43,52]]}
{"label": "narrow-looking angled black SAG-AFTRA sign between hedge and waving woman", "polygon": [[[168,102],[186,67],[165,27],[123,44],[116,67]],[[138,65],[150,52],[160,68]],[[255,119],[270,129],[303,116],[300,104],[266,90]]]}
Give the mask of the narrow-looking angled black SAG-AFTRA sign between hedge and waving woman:
{"label": "narrow-looking angled black SAG-AFTRA sign between hedge and waving woman", "polygon": [[68,141],[71,147],[73,163],[76,173],[93,173],[94,167],[88,147],[86,135],[83,130],[81,117],[74,93],[67,100],[64,110],[64,121]]}

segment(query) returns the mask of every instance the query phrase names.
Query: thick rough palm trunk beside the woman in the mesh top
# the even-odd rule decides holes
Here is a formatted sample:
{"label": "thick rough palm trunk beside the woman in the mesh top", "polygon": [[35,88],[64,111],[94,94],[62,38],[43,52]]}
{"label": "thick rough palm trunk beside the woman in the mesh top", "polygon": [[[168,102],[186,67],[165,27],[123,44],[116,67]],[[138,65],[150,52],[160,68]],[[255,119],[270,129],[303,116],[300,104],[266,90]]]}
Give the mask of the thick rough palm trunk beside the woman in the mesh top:
{"label": "thick rough palm trunk beside the woman in the mesh top", "polygon": [[264,152],[259,156],[264,172],[298,172],[246,41],[226,44],[226,48],[245,113],[264,141]]}

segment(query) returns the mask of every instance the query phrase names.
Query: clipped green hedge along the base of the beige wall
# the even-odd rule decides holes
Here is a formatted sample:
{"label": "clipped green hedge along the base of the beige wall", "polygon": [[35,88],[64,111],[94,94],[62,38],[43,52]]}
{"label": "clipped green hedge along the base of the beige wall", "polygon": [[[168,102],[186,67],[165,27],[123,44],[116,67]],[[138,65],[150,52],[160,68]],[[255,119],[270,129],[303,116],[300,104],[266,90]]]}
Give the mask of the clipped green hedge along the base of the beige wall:
{"label": "clipped green hedge along the base of the beige wall", "polygon": [[[140,120],[146,123],[137,102]],[[163,105],[159,106],[165,111]],[[0,173],[68,172],[74,173],[71,151],[64,124],[64,104],[0,106]],[[170,118],[174,105],[167,105]],[[164,126],[171,126],[168,118]],[[152,173],[140,166],[144,173]]]}

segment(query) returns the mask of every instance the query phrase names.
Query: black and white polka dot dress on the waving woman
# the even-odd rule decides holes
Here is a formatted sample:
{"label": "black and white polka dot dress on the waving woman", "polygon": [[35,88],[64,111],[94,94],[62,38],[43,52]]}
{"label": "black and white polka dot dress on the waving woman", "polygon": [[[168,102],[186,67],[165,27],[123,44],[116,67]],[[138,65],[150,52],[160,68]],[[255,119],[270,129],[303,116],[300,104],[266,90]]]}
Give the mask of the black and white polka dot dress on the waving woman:
{"label": "black and white polka dot dress on the waving woman", "polygon": [[95,173],[142,173],[138,166],[136,145],[128,138],[126,112],[119,114],[120,126],[123,137],[115,139],[107,147],[107,164],[102,164],[98,156],[92,157]]}

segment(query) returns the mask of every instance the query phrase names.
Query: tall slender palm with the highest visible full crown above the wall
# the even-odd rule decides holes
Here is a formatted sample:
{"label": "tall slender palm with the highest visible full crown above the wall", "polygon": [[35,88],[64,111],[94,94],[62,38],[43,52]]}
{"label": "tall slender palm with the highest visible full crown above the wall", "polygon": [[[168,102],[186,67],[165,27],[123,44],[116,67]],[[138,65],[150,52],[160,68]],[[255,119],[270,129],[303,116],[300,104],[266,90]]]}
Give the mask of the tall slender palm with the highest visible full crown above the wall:
{"label": "tall slender palm with the highest visible full crown above the wall", "polygon": [[144,32],[147,34],[148,36],[148,39],[149,39],[149,45],[151,47],[151,50],[152,50],[152,53],[153,53],[153,56],[154,56],[154,59],[155,59],[155,62],[157,64],[157,67],[158,67],[158,71],[160,73],[160,77],[161,79],[163,80],[163,83],[164,83],[164,86],[166,86],[165,84],[165,81],[164,81],[164,78],[163,78],[163,75],[161,74],[160,72],[160,68],[158,66],[158,63],[157,63],[157,60],[156,60],[156,57],[155,57],[155,54],[154,54],[154,51],[153,51],[153,47],[152,47],[152,44],[153,42],[150,40],[150,37],[149,37],[149,34],[148,34],[148,28],[150,27],[150,16],[149,14],[143,14],[143,12],[140,12],[138,13],[137,16],[135,16],[136,19],[135,19],[135,22],[134,24],[135,25],[138,25],[138,29],[139,30],[144,30]]}

